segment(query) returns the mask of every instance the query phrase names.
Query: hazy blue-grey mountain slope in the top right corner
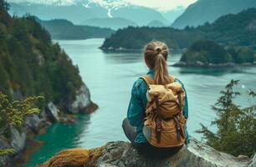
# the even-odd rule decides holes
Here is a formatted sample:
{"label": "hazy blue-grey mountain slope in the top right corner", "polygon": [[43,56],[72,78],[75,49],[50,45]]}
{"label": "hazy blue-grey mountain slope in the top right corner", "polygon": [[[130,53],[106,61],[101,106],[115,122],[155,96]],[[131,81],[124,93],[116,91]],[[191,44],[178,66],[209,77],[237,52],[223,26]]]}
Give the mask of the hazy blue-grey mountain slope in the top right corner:
{"label": "hazy blue-grey mountain slope in the top right corner", "polygon": [[198,0],[172,23],[173,28],[197,27],[206,22],[212,23],[217,18],[239,13],[244,9],[256,8],[255,0]]}

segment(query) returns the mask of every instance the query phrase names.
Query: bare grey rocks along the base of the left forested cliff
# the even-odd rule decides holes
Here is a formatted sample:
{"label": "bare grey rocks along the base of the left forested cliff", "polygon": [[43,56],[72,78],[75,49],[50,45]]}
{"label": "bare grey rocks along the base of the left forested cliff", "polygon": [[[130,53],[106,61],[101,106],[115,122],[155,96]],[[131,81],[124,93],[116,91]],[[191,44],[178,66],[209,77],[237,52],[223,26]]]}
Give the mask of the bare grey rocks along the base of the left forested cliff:
{"label": "bare grey rocks along the base of the left forested cliff", "polygon": [[[27,161],[30,154],[41,145],[34,141],[33,137],[44,133],[46,127],[50,124],[55,122],[73,123],[75,118],[72,114],[91,114],[98,108],[91,101],[90,91],[85,84],[78,89],[74,102],[69,104],[69,113],[59,110],[60,107],[53,102],[49,102],[39,115],[34,114],[32,117],[25,119],[25,127],[21,129],[11,127],[8,139],[3,135],[0,136],[0,148],[15,149],[13,154],[0,157],[0,166],[20,166],[20,164]],[[28,150],[28,148],[30,149]]]}

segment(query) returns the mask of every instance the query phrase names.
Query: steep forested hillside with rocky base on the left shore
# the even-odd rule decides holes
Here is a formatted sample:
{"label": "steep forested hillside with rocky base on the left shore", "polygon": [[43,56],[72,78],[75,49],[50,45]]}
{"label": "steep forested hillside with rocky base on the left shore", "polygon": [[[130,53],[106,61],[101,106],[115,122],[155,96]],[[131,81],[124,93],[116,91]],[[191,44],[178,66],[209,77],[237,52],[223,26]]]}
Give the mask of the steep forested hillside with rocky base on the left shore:
{"label": "steep forested hillside with rocky base on the left shore", "polygon": [[[52,43],[49,33],[34,17],[12,18],[7,10],[8,4],[0,0],[0,92],[12,100],[38,95],[44,100],[37,104],[39,115],[25,118],[26,126],[5,128],[0,115],[0,149],[14,149],[13,154],[0,156],[0,166],[5,167],[20,166],[16,159],[33,144],[33,135],[48,124],[67,121],[67,114],[96,109],[79,68],[59,44]],[[30,147],[35,149],[34,145]]]}

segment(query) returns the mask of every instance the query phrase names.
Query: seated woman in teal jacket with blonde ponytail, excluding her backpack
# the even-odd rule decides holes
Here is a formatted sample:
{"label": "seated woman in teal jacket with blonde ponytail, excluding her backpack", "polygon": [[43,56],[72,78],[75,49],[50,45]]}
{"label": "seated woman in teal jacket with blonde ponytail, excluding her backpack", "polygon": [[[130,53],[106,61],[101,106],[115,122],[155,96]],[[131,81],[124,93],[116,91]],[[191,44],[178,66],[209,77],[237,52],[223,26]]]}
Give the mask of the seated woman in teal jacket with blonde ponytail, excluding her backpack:
{"label": "seated woman in teal jacket with blonde ponytail, excluding her backpack", "polygon": [[[158,41],[151,42],[148,43],[146,45],[146,48],[144,49],[145,63],[146,66],[149,68],[147,75],[149,75],[154,80],[155,84],[167,84],[172,82],[167,71],[167,56],[168,48],[165,43],[161,43]],[[181,81],[179,81],[177,78],[175,81],[181,83]],[[184,89],[183,84],[182,89]],[[154,147],[147,142],[146,137],[142,133],[144,119],[146,117],[146,91],[146,82],[144,81],[144,79],[138,78],[132,87],[131,101],[128,107],[127,118],[124,119],[122,125],[125,131],[125,135],[131,141],[131,144],[133,144],[142,153],[159,154],[159,152],[168,152],[170,154],[175,154],[180,148],[182,148],[182,146],[175,148]],[[187,94],[184,98],[182,114],[187,119]],[[187,129],[185,134],[188,143],[189,139],[187,135]]]}

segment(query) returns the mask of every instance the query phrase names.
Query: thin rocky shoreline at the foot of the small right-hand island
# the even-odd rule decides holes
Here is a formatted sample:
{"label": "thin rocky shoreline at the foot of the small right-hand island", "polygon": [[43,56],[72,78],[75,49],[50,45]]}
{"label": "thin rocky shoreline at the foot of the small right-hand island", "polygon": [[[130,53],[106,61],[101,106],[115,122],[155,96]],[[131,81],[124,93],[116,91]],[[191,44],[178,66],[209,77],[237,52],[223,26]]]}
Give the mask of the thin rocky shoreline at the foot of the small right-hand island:
{"label": "thin rocky shoreline at the foot of the small right-hand island", "polygon": [[253,63],[202,63],[197,62],[177,62],[172,67],[195,67],[195,68],[234,68],[234,67],[255,67],[256,62]]}

